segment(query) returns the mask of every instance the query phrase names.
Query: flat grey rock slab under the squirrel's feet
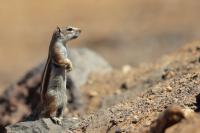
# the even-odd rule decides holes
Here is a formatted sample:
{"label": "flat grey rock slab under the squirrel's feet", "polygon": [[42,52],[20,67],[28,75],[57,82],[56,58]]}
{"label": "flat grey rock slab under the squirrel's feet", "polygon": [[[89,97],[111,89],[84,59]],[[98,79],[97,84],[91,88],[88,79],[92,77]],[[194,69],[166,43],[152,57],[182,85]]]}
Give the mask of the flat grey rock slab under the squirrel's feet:
{"label": "flat grey rock slab under the squirrel's feet", "polygon": [[20,122],[9,125],[5,128],[5,133],[72,133],[73,128],[79,126],[78,119],[64,119],[63,125],[54,124],[51,119],[40,119],[37,121]]}

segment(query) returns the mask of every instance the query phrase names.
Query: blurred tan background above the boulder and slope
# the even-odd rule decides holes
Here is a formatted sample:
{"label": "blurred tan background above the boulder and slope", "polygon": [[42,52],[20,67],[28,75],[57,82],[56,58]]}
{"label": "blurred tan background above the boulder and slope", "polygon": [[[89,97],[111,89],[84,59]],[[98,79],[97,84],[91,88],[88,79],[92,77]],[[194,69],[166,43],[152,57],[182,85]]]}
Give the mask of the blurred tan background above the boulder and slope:
{"label": "blurred tan background above the boulder and slope", "polygon": [[0,88],[46,59],[55,27],[83,32],[70,47],[89,47],[116,68],[152,62],[200,39],[199,0],[0,1]]}

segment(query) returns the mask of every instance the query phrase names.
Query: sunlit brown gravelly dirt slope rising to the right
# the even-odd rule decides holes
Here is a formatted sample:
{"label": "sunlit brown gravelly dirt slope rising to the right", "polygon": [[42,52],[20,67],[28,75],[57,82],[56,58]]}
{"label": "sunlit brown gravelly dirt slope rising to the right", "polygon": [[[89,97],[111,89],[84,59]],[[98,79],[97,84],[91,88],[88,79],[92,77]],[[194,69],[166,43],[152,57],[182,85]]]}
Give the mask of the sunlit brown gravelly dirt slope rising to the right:
{"label": "sunlit brown gravelly dirt slope rising to the right", "polygon": [[91,77],[83,88],[89,116],[74,131],[141,133],[171,105],[198,112],[199,48],[195,42],[156,64]]}

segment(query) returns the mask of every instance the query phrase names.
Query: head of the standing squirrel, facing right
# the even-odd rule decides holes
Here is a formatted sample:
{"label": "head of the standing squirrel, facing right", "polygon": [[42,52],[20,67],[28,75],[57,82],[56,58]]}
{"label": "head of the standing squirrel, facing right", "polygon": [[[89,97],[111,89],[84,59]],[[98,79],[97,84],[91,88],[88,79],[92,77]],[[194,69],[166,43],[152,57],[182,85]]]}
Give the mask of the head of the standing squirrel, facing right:
{"label": "head of the standing squirrel, facing right", "polygon": [[66,43],[67,41],[78,38],[80,33],[81,30],[76,27],[67,26],[60,28],[57,26],[56,30],[54,31],[54,37],[56,37],[58,41]]}

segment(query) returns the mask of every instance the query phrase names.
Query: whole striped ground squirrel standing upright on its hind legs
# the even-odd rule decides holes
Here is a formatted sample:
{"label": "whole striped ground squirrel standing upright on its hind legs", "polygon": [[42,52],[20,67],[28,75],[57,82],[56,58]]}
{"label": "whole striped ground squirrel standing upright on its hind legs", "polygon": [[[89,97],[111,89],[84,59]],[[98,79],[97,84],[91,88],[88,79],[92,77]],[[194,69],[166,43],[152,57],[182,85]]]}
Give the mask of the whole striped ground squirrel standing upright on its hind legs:
{"label": "whole striped ground squirrel standing upright on its hind legs", "polygon": [[78,38],[80,33],[81,30],[75,27],[57,27],[53,33],[42,76],[39,118],[51,118],[54,123],[62,124],[64,109],[69,100],[66,91],[70,91],[66,86],[67,82],[71,82],[67,81],[66,74],[72,70],[66,43]]}

